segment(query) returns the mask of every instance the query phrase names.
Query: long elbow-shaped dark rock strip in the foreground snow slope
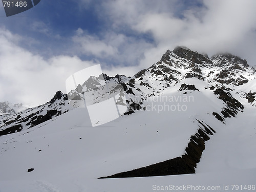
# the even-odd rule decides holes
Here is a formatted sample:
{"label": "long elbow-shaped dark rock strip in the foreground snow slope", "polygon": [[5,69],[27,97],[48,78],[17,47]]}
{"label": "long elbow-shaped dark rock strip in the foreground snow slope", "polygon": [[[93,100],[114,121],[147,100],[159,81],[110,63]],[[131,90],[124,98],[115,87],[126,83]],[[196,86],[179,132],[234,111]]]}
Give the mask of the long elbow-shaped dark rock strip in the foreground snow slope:
{"label": "long elbow-shaped dark rock strip in the foreground snow slope", "polygon": [[201,121],[197,120],[203,128],[199,125],[199,130],[195,135],[190,137],[190,141],[185,149],[185,154],[181,157],[176,157],[167,161],[152,164],[146,167],[137,168],[128,172],[118,173],[105,178],[127,178],[127,177],[154,177],[166,175],[180,175],[193,174],[197,163],[200,161],[203,151],[205,150],[205,142],[208,141],[209,135],[216,133],[209,125],[206,127]]}

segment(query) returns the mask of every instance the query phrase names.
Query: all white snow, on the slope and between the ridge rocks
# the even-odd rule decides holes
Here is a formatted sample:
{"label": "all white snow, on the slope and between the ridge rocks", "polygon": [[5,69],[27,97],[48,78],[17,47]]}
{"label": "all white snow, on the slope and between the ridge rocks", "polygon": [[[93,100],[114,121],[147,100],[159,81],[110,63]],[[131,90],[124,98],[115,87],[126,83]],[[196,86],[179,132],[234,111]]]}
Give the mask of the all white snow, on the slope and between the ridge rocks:
{"label": "all white snow, on the slope and between the ridge rocks", "polygon": [[[181,73],[173,74],[177,82],[169,83],[170,88],[164,89],[163,76],[151,74],[151,69],[142,75],[142,80],[135,79],[133,91],[136,96],[129,94],[130,100],[138,103],[141,98],[155,94],[152,101],[143,102],[144,111],[136,111],[97,127],[92,127],[86,108],[71,110],[72,106],[54,105],[21,113],[26,117],[40,110],[40,114],[56,108],[62,112],[70,110],[30,129],[0,137],[0,192],[148,192],[168,191],[174,186],[195,187],[194,190],[182,189],[184,191],[199,191],[196,188],[199,186],[213,187],[209,191],[229,191],[234,187],[232,185],[255,185],[256,111],[253,104],[256,101],[250,104],[244,96],[249,91],[255,92],[255,74],[249,74],[248,69],[240,73],[250,80],[248,83],[239,87],[225,85],[233,90],[232,96],[243,102],[245,109],[243,113],[238,112],[236,118],[227,118],[222,123],[212,112],[220,114],[225,103],[209,89],[216,84],[222,86],[212,80],[222,68],[202,67],[204,81],[185,79],[184,75],[190,71],[186,68],[189,62],[173,53],[170,60],[175,64],[172,67],[165,63],[161,65]],[[207,77],[210,71],[214,73]],[[126,82],[130,80],[120,77]],[[239,78],[239,75],[234,74],[234,78]],[[149,83],[152,88],[139,86],[141,81]],[[178,92],[182,83],[194,84],[199,91]],[[117,84],[116,79],[111,79],[108,86],[112,90]],[[105,99],[102,90],[95,91],[95,96],[98,99],[95,102]],[[166,98],[168,100],[164,100]],[[101,115],[109,114],[106,111]],[[97,179],[183,155],[190,136],[199,129],[196,119],[217,132],[205,143],[206,149],[197,164],[196,174]],[[29,168],[34,170],[28,173]]]}

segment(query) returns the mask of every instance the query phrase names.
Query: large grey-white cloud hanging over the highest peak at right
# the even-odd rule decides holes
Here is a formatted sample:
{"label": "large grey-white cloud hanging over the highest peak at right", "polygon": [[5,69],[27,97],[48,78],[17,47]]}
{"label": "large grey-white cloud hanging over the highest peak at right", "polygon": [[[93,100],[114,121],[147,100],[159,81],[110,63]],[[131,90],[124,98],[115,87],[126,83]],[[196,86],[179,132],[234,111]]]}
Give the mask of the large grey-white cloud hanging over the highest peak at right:
{"label": "large grey-white cloud hanging over the highest peak at right", "polygon": [[[177,45],[209,55],[231,52],[253,65],[256,59],[251,54],[256,49],[253,31],[256,29],[256,2],[207,0],[202,3],[196,7],[196,4],[191,6],[184,2],[181,5],[178,1],[117,0],[105,1],[102,9],[114,30],[125,27],[141,34],[152,34],[155,45],[144,50],[144,55],[149,55],[150,59],[142,59],[142,66],[158,60],[162,50]],[[156,58],[152,57],[154,51],[159,52]]]}

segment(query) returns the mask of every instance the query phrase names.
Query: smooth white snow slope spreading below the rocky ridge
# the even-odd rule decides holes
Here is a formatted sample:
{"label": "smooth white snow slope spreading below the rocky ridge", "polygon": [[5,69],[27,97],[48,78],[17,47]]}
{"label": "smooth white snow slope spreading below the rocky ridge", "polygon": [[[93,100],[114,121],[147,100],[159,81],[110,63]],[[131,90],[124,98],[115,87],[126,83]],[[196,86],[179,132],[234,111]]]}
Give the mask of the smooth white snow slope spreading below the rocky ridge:
{"label": "smooth white snow slope spreading below the rocky ridge", "polygon": [[[204,87],[203,81],[194,81],[198,81],[195,84],[198,84],[199,90]],[[164,94],[181,96],[181,93],[174,91]],[[253,123],[248,114],[252,117],[255,113],[248,108],[240,113],[241,117],[228,119],[225,125],[211,114],[205,115],[210,109],[209,103],[211,110],[217,108],[214,98],[209,98],[207,92],[191,91],[189,94],[194,96],[194,102],[186,102],[187,111],[184,112],[148,109],[91,127],[87,110],[77,108],[27,132],[0,137],[0,191],[153,191],[153,185],[253,184],[256,161],[252,152],[255,151],[256,131],[253,126],[248,126],[241,135],[240,127],[232,127],[244,117]],[[164,104],[153,103],[158,106]],[[250,107],[252,110],[253,107]],[[97,179],[182,155],[190,135],[198,129],[196,118],[199,117],[217,132],[206,142],[207,150],[198,164],[197,173],[204,174]],[[246,134],[254,135],[248,140]],[[27,173],[28,168],[35,169]],[[224,175],[220,174],[221,171]],[[234,176],[233,173],[239,175]],[[225,175],[228,179],[224,178]],[[224,180],[216,180],[216,177]],[[129,189],[126,189],[127,186]]]}

